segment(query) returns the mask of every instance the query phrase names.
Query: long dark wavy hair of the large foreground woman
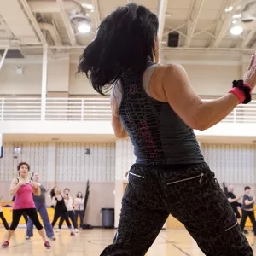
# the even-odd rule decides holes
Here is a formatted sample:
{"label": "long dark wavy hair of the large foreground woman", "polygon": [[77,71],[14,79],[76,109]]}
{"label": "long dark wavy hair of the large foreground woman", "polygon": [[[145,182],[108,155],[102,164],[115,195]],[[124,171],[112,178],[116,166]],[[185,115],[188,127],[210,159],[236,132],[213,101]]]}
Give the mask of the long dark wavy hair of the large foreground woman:
{"label": "long dark wavy hair of the large foreground woman", "polygon": [[102,20],[96,38],[80,57],[85,73],[102,95],[127,71],[143,72],[154,61],[158,18],[149,9],[129,3]]}

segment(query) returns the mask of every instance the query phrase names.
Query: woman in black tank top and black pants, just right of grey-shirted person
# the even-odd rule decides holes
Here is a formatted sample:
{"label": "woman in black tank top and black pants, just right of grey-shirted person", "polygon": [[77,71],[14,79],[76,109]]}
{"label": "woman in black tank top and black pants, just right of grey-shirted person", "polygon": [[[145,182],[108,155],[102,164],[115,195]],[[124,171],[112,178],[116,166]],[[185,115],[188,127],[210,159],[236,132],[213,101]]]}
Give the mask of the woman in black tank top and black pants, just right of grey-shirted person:
{"label": "woman in black tank top and black pants, just right of grey-shirted person", "polygon": [[68,219],[67,207],[66,207],[64,198],[61,195],[61,190],[57,187],[51,189],[50,197],[52,199],[52,205],[55,207],[55,215],[51,223],[52,227],[54,228],[57,220],[62,216],[67,223],[68,229],[70,230],[70,236],[75,236],[72,230],[72,225],[70,224]]}

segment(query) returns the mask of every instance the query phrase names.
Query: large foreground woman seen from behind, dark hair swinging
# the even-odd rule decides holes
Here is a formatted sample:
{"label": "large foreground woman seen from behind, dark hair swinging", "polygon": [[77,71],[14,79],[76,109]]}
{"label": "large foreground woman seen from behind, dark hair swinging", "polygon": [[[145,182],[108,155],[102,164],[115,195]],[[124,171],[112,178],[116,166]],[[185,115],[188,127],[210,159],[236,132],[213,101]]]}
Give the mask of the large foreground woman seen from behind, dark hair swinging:
{"label": "large foreground woman seen from behind, dark hair swinging", "polygon": [[225,96],[203,102],[183,67],[158,64],[158,27],[149,9],[129,3],[102,20],[80,57],[78,71],[98,93],[113,88],[113,131],[131,138],[137,157],[113,244],[101,255],[145,255],[172,214],[207,256],[252,256],[193,129],[206,130],[250,102],[255,56]]}

